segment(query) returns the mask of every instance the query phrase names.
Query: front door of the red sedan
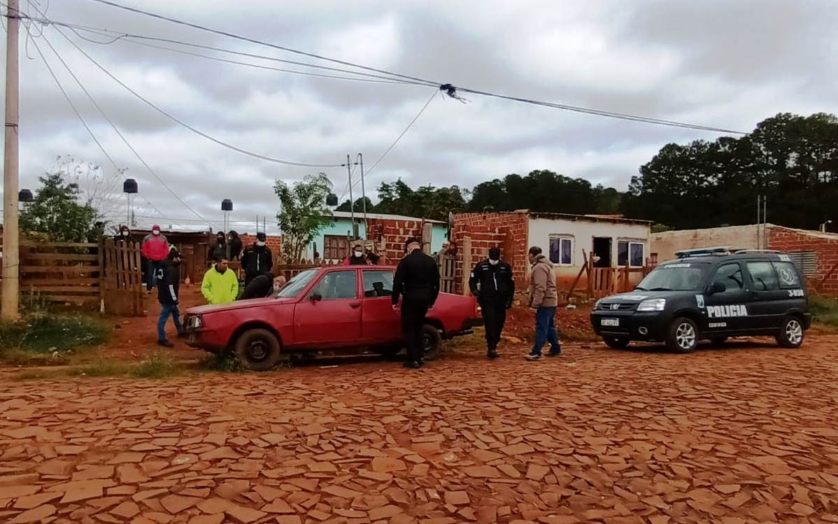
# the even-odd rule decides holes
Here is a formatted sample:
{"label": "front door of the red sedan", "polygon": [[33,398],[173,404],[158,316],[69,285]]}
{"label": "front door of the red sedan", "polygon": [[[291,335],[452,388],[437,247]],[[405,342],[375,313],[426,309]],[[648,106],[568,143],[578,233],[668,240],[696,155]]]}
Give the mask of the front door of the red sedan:
{"label": "front door of the red sedan", "polygon": [[297,345],[354,345],[361,336],[358,271],[325,272],[306,296],[294,304]]}

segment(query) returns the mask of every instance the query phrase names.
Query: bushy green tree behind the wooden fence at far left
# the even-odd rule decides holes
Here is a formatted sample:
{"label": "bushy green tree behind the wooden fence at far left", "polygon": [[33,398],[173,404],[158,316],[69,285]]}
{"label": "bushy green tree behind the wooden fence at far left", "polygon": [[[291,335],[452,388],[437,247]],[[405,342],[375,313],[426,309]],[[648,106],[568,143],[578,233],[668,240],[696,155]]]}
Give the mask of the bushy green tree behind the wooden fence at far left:
{"label": "bushy green tree behind the wooden fence at far left", "polygon": [[87,241],[96,229],[96,210],[80,204],[78,184],[67,184],[60,173],[39,180],[34,200],[20,214],[21,231],[41,233],[52,241]]}

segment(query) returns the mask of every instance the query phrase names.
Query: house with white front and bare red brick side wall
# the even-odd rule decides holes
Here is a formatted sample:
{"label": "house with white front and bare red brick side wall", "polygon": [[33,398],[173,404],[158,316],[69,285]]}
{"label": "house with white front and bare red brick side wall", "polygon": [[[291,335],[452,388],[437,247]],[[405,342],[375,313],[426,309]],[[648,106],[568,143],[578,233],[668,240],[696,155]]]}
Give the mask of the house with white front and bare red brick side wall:
{"label": "house with white front and bare red brick side wall", "polygon": [[[530,246],[541,247],[556,268],[556,285],[567,290],[576,280],[585,261],[594,255],[594,267],[643,267],[649,251],[648,220],[632,220],[616,215],[570,215],[536,213],[528,210],[502,213],[464,213],[454,215],[451,237],[462,246],[468,236],[472,262],[489,256],[489,248],[499,246],[512,265],[515,284],[527,283]],[[462,256],[458,258],[462,262]],[[466,268],[470,271],[470,268]],[[462,263],[458,264],[462,278]],[[638,274],[635,279],[639,279]],[[578,285],[583,286],[582,274]]]}

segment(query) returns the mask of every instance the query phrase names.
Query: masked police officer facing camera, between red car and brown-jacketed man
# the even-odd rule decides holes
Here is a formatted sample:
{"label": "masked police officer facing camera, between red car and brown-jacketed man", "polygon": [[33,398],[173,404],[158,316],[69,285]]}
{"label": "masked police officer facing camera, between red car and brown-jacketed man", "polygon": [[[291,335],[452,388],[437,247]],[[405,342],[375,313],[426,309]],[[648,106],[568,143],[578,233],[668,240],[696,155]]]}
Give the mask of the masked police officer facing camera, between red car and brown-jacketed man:
{"label": "masked police officer facing camera, between red car and brown-jacketed man", "polygon": [[468,279],[468,288],[477,297],[483,313],[488,347],[486,356],[496,359],[500,334],[506,322],[506,310],[512,307],[512,298],[515,297],[512,267],[500,260],[497,247],[489,249],[489,259],[474,266],[471,278]]}

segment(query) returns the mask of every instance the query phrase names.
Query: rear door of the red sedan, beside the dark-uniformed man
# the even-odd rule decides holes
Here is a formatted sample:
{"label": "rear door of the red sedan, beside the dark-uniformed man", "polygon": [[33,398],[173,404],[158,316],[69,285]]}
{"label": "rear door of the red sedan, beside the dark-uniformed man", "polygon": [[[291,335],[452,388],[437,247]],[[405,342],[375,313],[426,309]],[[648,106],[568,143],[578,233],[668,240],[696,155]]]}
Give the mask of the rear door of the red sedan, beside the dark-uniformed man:
{"label": "rear door of the red sedan, beside the dark-uniformed man", "polygon": [[383,344],[401,339],[401,319],[393,311],[393,272],[389,269],[361,271],[364,305],[361,336],[366,343]]}

